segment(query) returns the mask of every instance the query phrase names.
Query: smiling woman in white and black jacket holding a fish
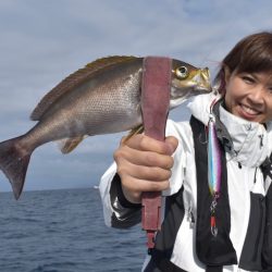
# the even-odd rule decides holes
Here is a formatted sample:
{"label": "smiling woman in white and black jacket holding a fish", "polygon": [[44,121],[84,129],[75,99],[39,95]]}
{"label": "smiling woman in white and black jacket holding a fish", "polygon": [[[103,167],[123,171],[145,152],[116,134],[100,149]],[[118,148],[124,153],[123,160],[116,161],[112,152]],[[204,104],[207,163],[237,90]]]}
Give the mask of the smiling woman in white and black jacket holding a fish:
{"label": "smiling woman in white and black jacket holding a fish", "polygon": [[271,75],[272,34],[250,35],[223,60],[214,92],[189,103],[190,122],[168,121],[165,143],[121,141],[100,185],[107,224],[132,226],[143,191],[163,196],[143,271],[272,271]]}

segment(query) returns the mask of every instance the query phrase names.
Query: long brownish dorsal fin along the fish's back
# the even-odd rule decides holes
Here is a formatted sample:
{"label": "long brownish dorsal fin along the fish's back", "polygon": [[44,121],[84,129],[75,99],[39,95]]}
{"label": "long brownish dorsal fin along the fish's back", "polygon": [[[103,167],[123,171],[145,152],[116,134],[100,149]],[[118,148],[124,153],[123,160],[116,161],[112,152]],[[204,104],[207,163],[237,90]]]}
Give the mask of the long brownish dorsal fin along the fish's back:
{"label": "long brownish dorsal fin along the fish's back", "polygon": [[79,69],[75,73],[69,75],[60,84],[52,88],[36,106],[30,115],[30,119],[33,121],[39,121],[44,113],[58,98],[72,90],[84,81],[88,79],[94,73],[102,71],[103,69],[116,63],[131,61],[133,59],[136,59],[136,57],[112,55],[88,63],[85,67]]}

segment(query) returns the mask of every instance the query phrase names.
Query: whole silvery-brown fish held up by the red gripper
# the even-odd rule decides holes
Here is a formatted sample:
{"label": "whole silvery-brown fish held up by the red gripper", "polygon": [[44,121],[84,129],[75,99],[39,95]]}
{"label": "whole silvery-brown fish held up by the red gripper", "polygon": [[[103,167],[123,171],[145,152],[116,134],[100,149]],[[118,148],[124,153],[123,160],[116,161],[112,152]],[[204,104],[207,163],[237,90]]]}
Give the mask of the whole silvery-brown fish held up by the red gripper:
{"label": "whole silvery-brown fish held up by the red gripper", "polygon": [[[18,199],[33,151],[62,140],[71,152],[86,136],[136,129],[143,123],[140,86],[144,58],[112,55],[69,75],[36,106],[36,124],[24,135],[0,143],[0,170]],[[209,69],[172,60],[170,109],[189,97],[211,91]]]}

